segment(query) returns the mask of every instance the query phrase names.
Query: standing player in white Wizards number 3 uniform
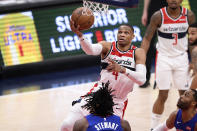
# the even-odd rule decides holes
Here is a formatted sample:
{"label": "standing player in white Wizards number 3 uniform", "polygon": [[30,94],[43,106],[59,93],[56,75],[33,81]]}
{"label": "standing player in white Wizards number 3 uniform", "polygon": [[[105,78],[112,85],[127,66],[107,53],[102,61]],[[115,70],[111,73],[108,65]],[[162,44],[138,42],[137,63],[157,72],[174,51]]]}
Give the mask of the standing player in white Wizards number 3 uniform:
{"label": "standing player in white Wizards number 3 uniform", "polygon": [[173,86],[183,94],[189,88],[188,79],[188,26],[195,22],[194,13],[180,6],[182,0],[167,0],[168,6],[151,17],[141,48],[147,52],[153,34],[157,31],[156,83],[159,95],[153,105],[151,128],[159,124],[168,91]]}

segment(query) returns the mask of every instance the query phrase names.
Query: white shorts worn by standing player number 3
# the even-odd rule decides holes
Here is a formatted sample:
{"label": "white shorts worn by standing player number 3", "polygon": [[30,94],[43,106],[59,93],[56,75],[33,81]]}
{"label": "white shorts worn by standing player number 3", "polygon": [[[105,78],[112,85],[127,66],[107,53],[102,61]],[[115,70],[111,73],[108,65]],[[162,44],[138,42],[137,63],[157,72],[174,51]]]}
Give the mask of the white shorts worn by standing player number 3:
{"label": "white shorts worn by standing player number 3", "polygon": [[179,56],[169,57],[157,53],[156,83],[160,90],[169,90],[171,85],[179,90],[189,88],[189,60],[185,52]]}

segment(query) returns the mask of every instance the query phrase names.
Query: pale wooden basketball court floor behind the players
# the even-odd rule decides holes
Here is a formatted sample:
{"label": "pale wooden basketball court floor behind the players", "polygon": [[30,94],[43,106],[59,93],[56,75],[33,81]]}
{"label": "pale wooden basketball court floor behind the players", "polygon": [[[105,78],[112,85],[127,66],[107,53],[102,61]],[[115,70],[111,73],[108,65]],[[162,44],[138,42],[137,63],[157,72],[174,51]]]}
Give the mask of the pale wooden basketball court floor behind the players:
{"label": "pale wooden basketball court floor behind the players", "polygon": [[[0,131],[58,131],[72,100],[86,93],[92,84],[1,96]],[[152,86],[134,87],[125,114],[132,131],[150,131],[151,110],[157,94],[158,90]],[[177,99],[177,90],[170,90],[162,121],[176,109]]]}

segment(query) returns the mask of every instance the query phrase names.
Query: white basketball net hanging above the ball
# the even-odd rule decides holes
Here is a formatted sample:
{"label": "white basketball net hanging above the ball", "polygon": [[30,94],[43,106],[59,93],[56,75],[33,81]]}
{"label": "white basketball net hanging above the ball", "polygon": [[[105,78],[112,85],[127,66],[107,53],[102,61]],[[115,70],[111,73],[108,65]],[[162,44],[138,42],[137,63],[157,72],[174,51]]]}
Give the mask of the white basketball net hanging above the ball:
{"label": "white basketball net hanging above the ball", "polygon": [[[83,7],[90,9],[92,12],[97,12],[99,14],[102,14],[102,13],[108,12],[109,5],[83,0]],[[82,13],[83,13],[83,15],[89,15],[86,12],[86,10],[84,10]]]}

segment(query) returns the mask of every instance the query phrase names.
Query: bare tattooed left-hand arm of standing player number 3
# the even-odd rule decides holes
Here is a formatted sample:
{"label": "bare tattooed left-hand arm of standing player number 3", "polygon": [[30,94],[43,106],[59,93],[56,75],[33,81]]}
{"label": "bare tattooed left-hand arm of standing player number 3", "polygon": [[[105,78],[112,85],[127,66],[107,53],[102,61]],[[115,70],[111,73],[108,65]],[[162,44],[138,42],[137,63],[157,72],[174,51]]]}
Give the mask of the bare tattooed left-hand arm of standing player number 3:
{"label": "bare tattooed left-hand arm of standing player number 3", "polygon": [[157,30],[157,28],[161,25],[161,13],[160,11],[155,12],[150,20],[150,24],[148,25],[144,38],[141,43],[141,48],[145,50],[145,53],[147,54],[148,49],[150,47],[150,41]]}

